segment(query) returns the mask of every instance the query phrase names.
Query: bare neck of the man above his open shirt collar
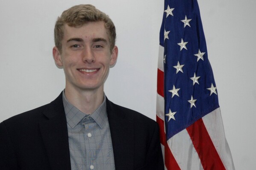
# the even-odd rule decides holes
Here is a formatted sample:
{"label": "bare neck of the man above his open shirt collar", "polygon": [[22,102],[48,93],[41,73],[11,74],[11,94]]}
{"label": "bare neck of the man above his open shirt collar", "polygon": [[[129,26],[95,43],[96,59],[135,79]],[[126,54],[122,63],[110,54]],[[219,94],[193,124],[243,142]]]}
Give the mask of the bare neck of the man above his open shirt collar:
{"label": "bare neck of the man above his open shirt collar", "polygon": [[85,114],[93,113],[103,102],[103,86],[94,90],[74,89],[66,86],[65,97]]}

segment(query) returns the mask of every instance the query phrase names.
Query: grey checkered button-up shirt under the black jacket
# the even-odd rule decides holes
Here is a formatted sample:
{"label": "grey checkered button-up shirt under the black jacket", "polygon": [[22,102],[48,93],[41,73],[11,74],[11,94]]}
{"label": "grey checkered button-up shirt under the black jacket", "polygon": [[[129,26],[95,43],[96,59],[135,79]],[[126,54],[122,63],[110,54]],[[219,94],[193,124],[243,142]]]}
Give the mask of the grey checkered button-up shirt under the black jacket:
{"label": "grey checkered button-up shirt under the black jacket", "polygon": [[71,170],[115,170],[106,96],[91,115],[69,103],[64,91],[62,99],[68,125]]}

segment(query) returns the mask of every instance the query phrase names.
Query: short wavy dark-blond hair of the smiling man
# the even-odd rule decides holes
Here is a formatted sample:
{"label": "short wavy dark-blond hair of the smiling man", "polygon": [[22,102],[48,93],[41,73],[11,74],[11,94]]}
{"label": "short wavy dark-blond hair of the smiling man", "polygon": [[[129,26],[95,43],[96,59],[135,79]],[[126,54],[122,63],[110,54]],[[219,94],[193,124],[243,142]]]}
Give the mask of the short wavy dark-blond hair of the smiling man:
{"label": "short wavy dark-blond hair of the smiling man", "polygon": [[96,9],[95,6],[90,4],[77,5],[62,12],[58,17],[54,27],[54,41],[55,46],[62,50],[62,39],[64,37],[64,25],[72,27],[79,27],[88,22],[104,21],[107,34],[109,35],[110,51],[115,46],[116,32],[115,25],[107,14]]}

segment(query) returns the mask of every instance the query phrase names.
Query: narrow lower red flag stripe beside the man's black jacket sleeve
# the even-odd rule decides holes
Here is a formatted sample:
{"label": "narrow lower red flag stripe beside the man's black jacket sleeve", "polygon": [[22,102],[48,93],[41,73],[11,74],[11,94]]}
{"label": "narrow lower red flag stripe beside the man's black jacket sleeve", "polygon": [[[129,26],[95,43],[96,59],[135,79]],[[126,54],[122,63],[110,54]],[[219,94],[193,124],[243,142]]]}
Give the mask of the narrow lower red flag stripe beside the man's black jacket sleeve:
{"label": "narrow lower red flag stripe beside the man's black jacket sleeve", "polygon": [[166,142],[165,127],[164,127],[165,122],[158,116],[156,116],[156,122],[159,124],[160,141],[165,146],[165,167],[167,168],[167,170],[180,170],[179,165],[177,164],[177,161],[175,160]]}

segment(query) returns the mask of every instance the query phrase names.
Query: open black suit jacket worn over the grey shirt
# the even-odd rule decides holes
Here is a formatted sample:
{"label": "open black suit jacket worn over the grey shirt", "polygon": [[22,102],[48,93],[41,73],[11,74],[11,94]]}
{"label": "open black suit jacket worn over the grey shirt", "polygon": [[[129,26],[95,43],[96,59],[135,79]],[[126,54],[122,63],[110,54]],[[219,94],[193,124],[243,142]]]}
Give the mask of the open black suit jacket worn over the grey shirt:
{"label": "open black suit jacket worn over the grey shirt", "polygon": [[[163,170],[157,123],[106,100],[116,170]],[[0,123],[0,170],[71,170],[62,93]]]}

